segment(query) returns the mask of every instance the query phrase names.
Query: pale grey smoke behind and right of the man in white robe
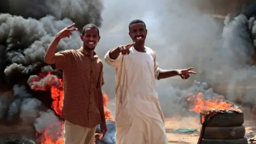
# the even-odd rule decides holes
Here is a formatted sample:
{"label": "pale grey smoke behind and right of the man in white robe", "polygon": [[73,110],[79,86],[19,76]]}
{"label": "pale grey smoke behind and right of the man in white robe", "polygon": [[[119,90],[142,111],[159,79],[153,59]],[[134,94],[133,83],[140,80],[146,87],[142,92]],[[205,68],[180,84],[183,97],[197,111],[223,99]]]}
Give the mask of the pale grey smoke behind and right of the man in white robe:
{"label": "pale grey smoke behind and right of the man in white robe", "polygon": [[[228,15],[225,22],[220,21],[201,10],[207,3],[203,1],[134,3],[105,2],[101,41],[97,51],[102,54],[102,58],[107,50],[130,43],[129,22],[142,19],[148,29],[146,45],[156,51],[161,68],[195,67],[198,74],[187,81],[174,77],[157,82],[165,115],[187,114],[185,112],[188,109],[184,109],[186,95],[198,91],[202,91],[206,98],[223,95],[241,104],[239,106],[255,106],[255,68],[252,65],[255,55],[254,18],[252,20],[247,15],[237,14],[233,17]],[[213,8],[209,5],[209,9]],[[215,12],[225,13],[225,7],[215,7]],[[120,12],[113,13],[113,10]],[[105,65],[105,81],[108,85],[104,88],[109,95],[114,95],[113,73],[115,70]]]}

